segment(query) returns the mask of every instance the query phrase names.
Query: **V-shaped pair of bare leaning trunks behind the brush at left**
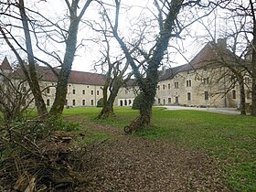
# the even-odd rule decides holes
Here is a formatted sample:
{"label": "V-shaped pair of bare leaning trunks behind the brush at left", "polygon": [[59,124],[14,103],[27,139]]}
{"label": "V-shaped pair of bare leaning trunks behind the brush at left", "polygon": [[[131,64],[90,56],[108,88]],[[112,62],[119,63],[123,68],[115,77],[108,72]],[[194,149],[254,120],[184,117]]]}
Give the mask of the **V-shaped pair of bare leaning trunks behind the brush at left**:
{"label": "V-shaped pair of bare leaning trunks behind the brush at left", "polygon": [[[1,3],[1,5],[3,5],[3,7],[1,8],[1,16],[3,16],[4,18],[7,17],[10,20],[9,23],[3,23],[4,21],[1,21],[0,29],[2,37],[5,38],[6,44],[12,49],[12,51],[16,55],[16,58],[18,59],[18,63],[21,66],[21,69],[23,70],[27,78],[28,85],[31,88],[31,91],[35,97],[37,112],[39,115],[45,115],[48,112],[39,87],[36,60],[47,65],[58,78],[56,97],[50,113],[62,113],[66,101],[69,73],[72,67],[73,59],[75,57],[75,52],[77,50],[77,39],[80,20],[89,5],[91,4],[92,0],[87,0],[83,3],[80,3],[80,0],[71,1],[71,3],[69,3],[69,0],[65,0],[64,2],[69,10],[68,29],[66,29],[65,27],[67,22],[65,21],[65,19],[59,21],[64,23],[64,27],[61,27],[58,22],[54,23],[48,18],[48,16],[45,16],[46,13],[42,14],[39,13],[36,9],[34,10],[25,7],[24,0],[19,0],[18,2],[8,1],[3,4]],[[17,14],[16,8],[18,8],[19,14]],[[40,21],[40,19],[42,19],[43,21]],[[15,22],[12,22],[13,20],[15,20]],[[22,23],[21,26],[19,26],[19,22]],[[24,45],[23,43],[19,42],[20,40],[23,40],[23,38],[17,36],[16,30],[12,30],[12,28],[23,30],[25,34]],[[39,59],[35,56],[33,51],[35,45],[32,43],[31,34],[33,35],[33,40],[36,41],[37,49],[48,55],[48,57],[51,57],[52,59],[55,59],[59,62],[59,73],[55,71],[54,67],[52,67],[47,61]],[[49,43],[51,45],[55,43],[65,43],[66,49],[63,61],[60,59],[61,56],[57,54],[57,51],[48,52],[48,48],[46,45],[44,46],[45,48],[41,48],[42,45],[40,45],[38,40],[38,38],[40,37],[39,35],[41,34],[44,34],[45,38],[51,41]],[[60,38],[59,41],[55,39],[55,37],[57,36],[59,36]],[[28,69],[24,65],[22,59],[23,56],[21,56],[21,53],[20,51],[18,51],[18,49],[23,51],[23,53],[25,52],[27,54]]]}

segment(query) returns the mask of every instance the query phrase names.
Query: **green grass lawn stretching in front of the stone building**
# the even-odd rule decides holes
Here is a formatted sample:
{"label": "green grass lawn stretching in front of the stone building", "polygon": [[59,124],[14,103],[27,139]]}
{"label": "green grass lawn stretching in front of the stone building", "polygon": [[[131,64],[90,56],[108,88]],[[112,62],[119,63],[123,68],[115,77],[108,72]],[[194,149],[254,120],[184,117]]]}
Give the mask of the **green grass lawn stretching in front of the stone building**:
{"label": "green grass lawn stretching in front of the stone building", "polygon": [[[123,129],[138,114],[128,107],[116,108],[116,117],[97,120],[98,112],[99,108],[74,108],[65,110],[64,115],[85,115],[89,121]],[[256,118],[154,108],[153,124],[152,129],[134,136],[207,151],[222,162],[232,191],[256,191]]]}

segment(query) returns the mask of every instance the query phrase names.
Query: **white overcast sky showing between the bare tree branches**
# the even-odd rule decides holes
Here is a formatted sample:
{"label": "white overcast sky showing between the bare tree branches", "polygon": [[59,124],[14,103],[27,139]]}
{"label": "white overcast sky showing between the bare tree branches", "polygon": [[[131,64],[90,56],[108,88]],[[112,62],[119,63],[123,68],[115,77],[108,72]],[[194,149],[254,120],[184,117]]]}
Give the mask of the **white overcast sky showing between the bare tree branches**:
{"label": "white overcast sky showing between the bare tree branches", "polygon": [[[112,0],[110,0],[112,2]],[[37,9],[42,13],[46,14],[47,16],[50,16],[52,20],[58,19],[59,16],[63,16],[66,14],[66,6],[64,5],[63,0],[51,0],[51,1],[26,1],[27,4],[33,5],[32,2],[34,2],[33,7],[37,7]],[[125,5],[131,5],[133,6],[128,11],[123,11],[122,16],[120,18],[120,30],[123,33],[124,38],[128,38],[133,34],[133,31],[129,31],[129,28],[131,27],[131,24],[134,20],[139,19],[141,16],[143,16],[144,13],[148,13],[150,16],[150,12],[145,11],[145,7],[150,8],[153,6],[152,0],[141,0],[141,1],[131,1],[131,0],[123,0],[123,6]],[[97,19],[99,18],[99,10],[97,9],[97,5],[90,5],[89,9],[86,11],[85,15],[83,16],[83,19]],[[217,13],[218,15],[221,15],[220,13]],[[131,22],[130,22],[131,20]],[[206,24],[208,27],[213,30],[214,23],[212,22],[213,16],[209,17],[208,19],[204,20],[204,24]],[[220,28],[223,27],[223,25],[227,26],[229,25],[229,21],[226,21],[226,23],[223,23],[223,20],[221,21],[220,18],[217,20],[217,31],[220,31]],[[67,23],[68,26],[68,23]],[[210,37],[208,37],[208,33],[206,30],[202,27],[200,24],[195,24],[193,27],[190,28],[189,36],[182,36],[182,40],[174,39],[172,40],[172,45],[175,45],[176,48],[180,48],[183,51],[184,56],[186,59],[184,59],[184,56],[181,56],[178,53],[175,53],[175,49],[170,49],[170,52],[173,52],[171,54],[171,60],[174,63],[171,63],[171,67],[176,67],[177,65],[182,65],[187,63],[187,60],[192,59],[197,52],[202,48],[203,45],[205,45],[208,40],[210,40]],[[92,37],[97,37],[99,34],[96,32],[93,32],[91,29],[86,27],[83,24],[80,24],[80,31],[79,31],[79,40],[78,43],[81,42],[81,39],[86,38],[87,40],[83,40],[82,44],[84,47],[81,47],[78,52],[77,56],[73,63],[73,68],[75,70],[80,71],[93,71],[93,63],[100,59],[101,57],[101,51],[103,50],[101,47],[97,46],[95,43],[92,43],[91,40],[88,40]],[[220,32],[216,34],[216,37],[221,37]],[[35,43],[35,42],[34,42]],[[112,44],[114,47],[118,47],[117,44]],[[65,45],[50,45],[48,48],[52,48],[53,50],[59,50],[60,52],[64,52]],[[4,51],[5,46],[1,46],[1,58],[4,59],[5,55],[9,55],[9,52]],[[117,50],[117,49],[116,49]],[[112,49],[112,53],[114,55],[115,49]],[[36,51],[36,55],[37,55]],[[40,57],[41,55],[37,55],[37,57]],[[63,58],[63,57],[62,57]],[[10,57],[8,58],[10,59]],[[12,60],[12,59],[11,59]],[[49,62],[52,62],[51,59],[49,59]],[[170,65],[168,65],[170,66]],[[100,72],[100,71],[98,71]]]}

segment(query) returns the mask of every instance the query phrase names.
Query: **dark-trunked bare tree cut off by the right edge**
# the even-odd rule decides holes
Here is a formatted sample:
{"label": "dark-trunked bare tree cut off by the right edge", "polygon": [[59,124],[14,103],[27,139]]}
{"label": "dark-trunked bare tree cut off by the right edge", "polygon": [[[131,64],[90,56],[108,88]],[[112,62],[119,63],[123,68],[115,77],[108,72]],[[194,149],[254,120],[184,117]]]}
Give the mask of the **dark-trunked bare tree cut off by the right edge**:
{"label": "dark-trunked bare tree cut off by the right edge", "polygon": [[[248,51],[247,55],[250,58],[250,63],[246,61],[242,67],[251,76],[251,115],[256,116],[256,3],[252,0],[249,2],[230,1],[229,5],[221,8],[228,10],[229,17],[236,22],[234,26],[235,30],[232,34],[229,34],[233,38],[234,43],[232,51],[237,52],[236,48],[240,46],[240,41],[243,41],[244,45],[243,51],[240,51],[240,56],[244,56],[245,51]],[[241,83],[241,80],[239,81]]]}

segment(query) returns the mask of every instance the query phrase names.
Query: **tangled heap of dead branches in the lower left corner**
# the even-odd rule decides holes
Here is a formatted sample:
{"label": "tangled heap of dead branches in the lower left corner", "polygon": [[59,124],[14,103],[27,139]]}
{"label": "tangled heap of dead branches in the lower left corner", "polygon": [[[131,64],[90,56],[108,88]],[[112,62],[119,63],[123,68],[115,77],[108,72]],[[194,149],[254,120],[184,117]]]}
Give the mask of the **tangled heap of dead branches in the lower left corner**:
{"label": "tangled heap of dead branches in the lower left corner", "polygon": [[73,133],[45,133],[42,127],[33,122],[0,128],[0,191],[73,191],[86,185],[82,173],[90,152],[73,144]]}

